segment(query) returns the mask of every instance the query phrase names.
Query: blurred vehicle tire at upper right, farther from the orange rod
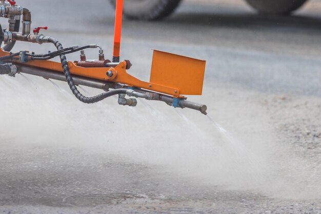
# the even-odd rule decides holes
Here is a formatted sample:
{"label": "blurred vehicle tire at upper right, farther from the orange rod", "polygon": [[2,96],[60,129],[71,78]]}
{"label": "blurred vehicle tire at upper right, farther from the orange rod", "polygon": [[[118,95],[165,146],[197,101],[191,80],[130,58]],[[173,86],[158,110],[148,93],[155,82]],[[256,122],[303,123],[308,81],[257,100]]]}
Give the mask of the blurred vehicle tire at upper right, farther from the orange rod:
{"label": "blurred vehicle tire at upper right, farther from the orange rod", "polygon": [[245,0],[259,12],[267,14],[289,14],[308,0]]}

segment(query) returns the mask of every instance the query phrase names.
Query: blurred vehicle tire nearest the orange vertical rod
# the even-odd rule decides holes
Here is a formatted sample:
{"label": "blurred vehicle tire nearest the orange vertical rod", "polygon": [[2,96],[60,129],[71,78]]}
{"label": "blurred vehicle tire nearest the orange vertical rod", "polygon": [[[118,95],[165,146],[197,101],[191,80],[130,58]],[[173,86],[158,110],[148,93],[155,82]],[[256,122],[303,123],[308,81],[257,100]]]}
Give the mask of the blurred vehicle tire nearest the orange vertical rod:
{"label": "blurred vehicle tire nearest the orange vertical rod", "polygon": [[[109,0],[115,5],[116,0]],[[124,0],[124,15],[133,20],[159,20],[170,15],[181,0]]]}

